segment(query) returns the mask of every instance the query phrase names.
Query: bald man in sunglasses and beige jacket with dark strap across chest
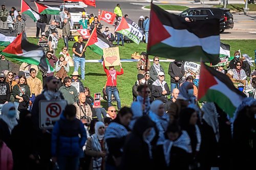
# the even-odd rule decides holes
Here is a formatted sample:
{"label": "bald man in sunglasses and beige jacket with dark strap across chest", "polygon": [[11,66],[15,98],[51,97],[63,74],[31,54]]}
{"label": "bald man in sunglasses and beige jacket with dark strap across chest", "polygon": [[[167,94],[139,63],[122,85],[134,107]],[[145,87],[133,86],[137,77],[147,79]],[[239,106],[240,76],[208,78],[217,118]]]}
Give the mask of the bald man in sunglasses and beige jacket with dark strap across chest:
{"label": "bald man in sunglasses and beige jacket with dark strap across chest", "polygon": [[79,93],[78,99],[79,101],[74,104],[76,107],[76,118],[79,120],[84,119],[85,123],[90,124],[93,119],[93,113],[89,104],[86,103],[86,94],[84,92]]}

